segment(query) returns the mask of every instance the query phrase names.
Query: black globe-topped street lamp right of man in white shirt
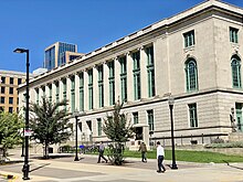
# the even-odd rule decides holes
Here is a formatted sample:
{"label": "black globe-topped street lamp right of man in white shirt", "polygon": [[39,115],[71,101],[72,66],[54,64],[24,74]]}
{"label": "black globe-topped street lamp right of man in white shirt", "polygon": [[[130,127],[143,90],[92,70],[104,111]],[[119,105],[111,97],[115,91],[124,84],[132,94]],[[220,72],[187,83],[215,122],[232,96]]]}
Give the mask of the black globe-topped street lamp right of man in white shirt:
{"label": "black globe-topped street lamp right of man in white shirt", "polygon": [[170,124],[171,124],[171,144],[172,144],[172,167],[171,169],[178,169],[176,163],[176,154],[175,154],[175,139],[173,139],[173,104],[175,99],[172,96],[169,96],[168,104],[170,108]]}

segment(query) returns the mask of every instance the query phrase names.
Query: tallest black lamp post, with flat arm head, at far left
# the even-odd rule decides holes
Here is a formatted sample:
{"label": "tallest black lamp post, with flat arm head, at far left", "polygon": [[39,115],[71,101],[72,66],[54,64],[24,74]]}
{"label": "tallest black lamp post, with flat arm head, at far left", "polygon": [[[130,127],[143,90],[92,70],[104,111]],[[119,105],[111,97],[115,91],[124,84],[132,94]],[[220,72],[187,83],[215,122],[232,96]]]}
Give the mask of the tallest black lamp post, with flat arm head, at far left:
{"label": "tallest black lamp post, with flat arm head, at far left", "polygon": [[[29,94],[29,81],[30,81],[30,62],[29,62],[29,50],[25,49],[15,49],[13,51],[14,53],[27,53],[27,108],[25,108],[25,131],[29,131],[29,98],[30,98],[30,94]],[[29,170],[30,170],[30,165],[29,165],[29,135],[24,135],[25,136],[25,152],[24,152],[24,164],[23,164],[23,180],[30,180],[29,178]]]}

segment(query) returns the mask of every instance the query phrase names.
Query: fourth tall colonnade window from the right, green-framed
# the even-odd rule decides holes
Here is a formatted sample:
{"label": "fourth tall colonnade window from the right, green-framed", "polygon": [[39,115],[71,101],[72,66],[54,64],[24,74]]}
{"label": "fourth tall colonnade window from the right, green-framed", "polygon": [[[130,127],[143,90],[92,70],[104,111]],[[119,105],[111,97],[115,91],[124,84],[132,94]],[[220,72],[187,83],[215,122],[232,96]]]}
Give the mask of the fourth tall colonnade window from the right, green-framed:
{"label": "fourth tall colonnade window from the right, green-framed", "polygon": [[108,62],[109,68],[109,105],[115,105],[115,67],[114,61]]}

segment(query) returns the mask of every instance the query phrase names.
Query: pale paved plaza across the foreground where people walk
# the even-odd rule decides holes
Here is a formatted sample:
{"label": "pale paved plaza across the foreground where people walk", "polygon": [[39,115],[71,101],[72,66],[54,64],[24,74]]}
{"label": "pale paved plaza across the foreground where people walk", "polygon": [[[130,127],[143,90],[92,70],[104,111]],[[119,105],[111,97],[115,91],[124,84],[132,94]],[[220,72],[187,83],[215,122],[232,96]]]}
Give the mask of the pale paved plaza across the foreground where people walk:
{"label": "pale paved plaza across the foreground where people walk", "polygon": [[[7,182],[6,175],[14,175],[22,180],[23,159],[11,156],[14,164],[1,165],[0,182]],[[126,159],[122,167],[109,163],[97,163],[97,157],[81,154],[80,161],[73,156],[55,156],[41,160],[38,156],[30,157],[31,182],[243,182],[243,163],[190,163],[178,161],[178,170],[171,170],[171,161],[165,161],[166,173],[157,173],[154,159],[142,163],[140,159]],[[10,180],[9,180],[10,181]]]}

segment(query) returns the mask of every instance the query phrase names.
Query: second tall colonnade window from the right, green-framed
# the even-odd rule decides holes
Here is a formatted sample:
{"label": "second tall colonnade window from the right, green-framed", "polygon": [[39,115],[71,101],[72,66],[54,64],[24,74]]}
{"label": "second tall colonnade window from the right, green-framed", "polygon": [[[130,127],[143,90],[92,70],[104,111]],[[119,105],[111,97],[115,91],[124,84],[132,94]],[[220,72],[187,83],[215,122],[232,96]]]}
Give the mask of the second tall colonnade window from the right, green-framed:
{"label": "second tall colonnade window from the right, green-framed", "polygon": [[140,99],[140,52],[133,53],[133,61],[134,61],[134,97],[135,100]]}

